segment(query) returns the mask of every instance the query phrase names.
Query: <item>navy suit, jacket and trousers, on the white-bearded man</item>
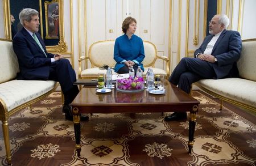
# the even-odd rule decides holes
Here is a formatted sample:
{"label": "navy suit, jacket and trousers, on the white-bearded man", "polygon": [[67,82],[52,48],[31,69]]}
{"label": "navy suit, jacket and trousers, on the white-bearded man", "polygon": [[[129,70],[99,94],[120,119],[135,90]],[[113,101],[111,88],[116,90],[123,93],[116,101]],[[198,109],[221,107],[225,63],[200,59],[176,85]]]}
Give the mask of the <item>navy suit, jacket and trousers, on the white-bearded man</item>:
{"label": "navy suit, jacket and trousers, on the white-bearded man", "polygon": [[205,37],[200,48],[194,53],[195,58],[182,58],[172,72],[169,81],[178,85],[181,90],[189,93],[191,84],[200,79],[220,79],[238,77],[237,61],[242,50],[240,33],[224,29],[213,46],[212,56],[217,58],[216,63],[210,63],[196,58],[204,53],[207,44],[214,35]]}

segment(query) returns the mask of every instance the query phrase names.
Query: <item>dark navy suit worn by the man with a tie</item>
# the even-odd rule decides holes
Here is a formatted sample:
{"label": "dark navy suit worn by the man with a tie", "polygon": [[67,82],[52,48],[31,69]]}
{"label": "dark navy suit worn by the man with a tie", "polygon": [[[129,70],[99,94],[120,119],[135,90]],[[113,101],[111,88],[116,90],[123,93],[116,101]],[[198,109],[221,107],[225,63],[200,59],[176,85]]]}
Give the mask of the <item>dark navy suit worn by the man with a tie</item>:
{"label": "dark navy suit worn by the man with a tie", "polygon": [[17,79],[25,80],[55,80],[60,83],[64,93],[64,104],[69,104],[78,93],[77,86],[73,86],[76,73],[68,59],[59,59],[51,62],[54,54],[47,53],[46,46],[39,33],[35,33],[47,55],[36,43],[25,28],[16,33],[13,39],[13,49],[19,61],[20,73]]}

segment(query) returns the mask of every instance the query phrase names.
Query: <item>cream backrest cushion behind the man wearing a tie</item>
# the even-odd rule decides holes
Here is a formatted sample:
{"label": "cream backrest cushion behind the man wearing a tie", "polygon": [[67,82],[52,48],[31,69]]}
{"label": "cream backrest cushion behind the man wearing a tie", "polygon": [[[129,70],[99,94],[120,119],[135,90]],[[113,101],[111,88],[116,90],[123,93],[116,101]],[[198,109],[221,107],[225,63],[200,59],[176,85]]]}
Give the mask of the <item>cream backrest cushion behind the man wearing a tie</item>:
{"label": "cream backrest cushion behind the man wearing a tie", "polygon": [[19,63],[11,41],[0,40],[0,50],[0,83],[2,83],[16,77],[16,73],[19,72]]}

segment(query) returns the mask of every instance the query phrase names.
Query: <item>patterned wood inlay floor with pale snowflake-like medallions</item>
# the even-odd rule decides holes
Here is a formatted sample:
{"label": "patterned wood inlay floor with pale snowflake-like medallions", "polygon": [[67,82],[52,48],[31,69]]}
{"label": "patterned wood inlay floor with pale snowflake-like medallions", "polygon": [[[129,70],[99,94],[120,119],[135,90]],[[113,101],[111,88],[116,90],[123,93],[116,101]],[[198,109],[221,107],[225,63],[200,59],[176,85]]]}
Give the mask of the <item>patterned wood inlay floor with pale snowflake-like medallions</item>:
{"label": "patterned wood inlay floor with pale snowflake-like medallions", "polygon": [[[161,113],[92,114],[81,124],[81,156],[73,122],[53,92],[10,117],[13,165],[255,165],[256,125],[251,114],[193,91],[200,101],[195,142],[188,154],[187,120],[164,121]],[[137,96],[139,97],[139,96]],[[125,100],[125,98],[124,98]],[[247,120],[248,119],[248,120]],[[250,120],[250,121],[249,121]],[[7,165],[0,129],[0,165]]]}

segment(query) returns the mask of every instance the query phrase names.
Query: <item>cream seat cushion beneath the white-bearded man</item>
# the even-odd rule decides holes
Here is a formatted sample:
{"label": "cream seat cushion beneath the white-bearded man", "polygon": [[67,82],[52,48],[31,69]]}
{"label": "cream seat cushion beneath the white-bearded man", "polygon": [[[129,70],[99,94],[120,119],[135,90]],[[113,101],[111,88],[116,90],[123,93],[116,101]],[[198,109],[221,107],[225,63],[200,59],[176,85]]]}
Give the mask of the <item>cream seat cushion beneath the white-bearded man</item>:
{"label": "cream seat cushion beneath the white-bearded man", "polygon": [[251,107],[256,105],[256,82],[241,78],[202,79],[199,81],[209,91],[228,99],[245,103]]}

